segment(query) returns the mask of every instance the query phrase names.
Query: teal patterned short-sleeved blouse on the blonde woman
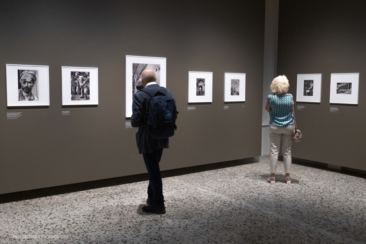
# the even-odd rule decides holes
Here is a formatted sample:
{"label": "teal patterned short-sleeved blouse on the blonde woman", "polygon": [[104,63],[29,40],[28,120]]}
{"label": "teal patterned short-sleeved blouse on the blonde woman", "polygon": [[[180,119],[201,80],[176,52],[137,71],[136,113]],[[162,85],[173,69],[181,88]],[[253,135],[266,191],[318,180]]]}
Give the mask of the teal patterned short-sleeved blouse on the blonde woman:
{"label": "teal patterned short-sleeved blouse on the blonde woman", "polygon": [[267,97],[269,110],[269,124],[275,127],[287,127],[294,124],[291,94],[271,94]]}

